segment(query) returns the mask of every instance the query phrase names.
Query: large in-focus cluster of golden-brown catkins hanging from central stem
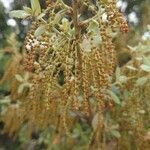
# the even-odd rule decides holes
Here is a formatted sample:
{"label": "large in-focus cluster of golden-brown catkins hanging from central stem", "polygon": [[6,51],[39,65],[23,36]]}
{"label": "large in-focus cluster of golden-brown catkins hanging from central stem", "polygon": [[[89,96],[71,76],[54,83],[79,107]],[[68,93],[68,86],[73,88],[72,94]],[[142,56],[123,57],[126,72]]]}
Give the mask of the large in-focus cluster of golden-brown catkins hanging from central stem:
{"label": "large in-focus cluster of golden-brown catkins hanging from central stem", "polygon": [[[112,103],[108,91],[116,54],[111,33],[128,28],[114,0],[46,4],[46,17],[35,19],[26,37],[24,67],[31,73],[32,85],[18,113],[21,123],[28,121],[30,127],[54,125],[60,132],[69,131],[74,116],[92,119],[98,112],[102,118]],[[41,27],[44,32],[35,36]]]}

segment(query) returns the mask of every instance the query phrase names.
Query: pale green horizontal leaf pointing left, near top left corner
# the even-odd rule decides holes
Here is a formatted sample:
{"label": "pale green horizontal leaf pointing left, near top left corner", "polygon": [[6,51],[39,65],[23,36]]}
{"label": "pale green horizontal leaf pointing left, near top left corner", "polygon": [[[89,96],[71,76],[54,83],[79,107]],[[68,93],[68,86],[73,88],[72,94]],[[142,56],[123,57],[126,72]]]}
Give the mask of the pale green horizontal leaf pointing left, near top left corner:
{"label": "pale green horizontal leaf pointing left, near top left corner", "polygon": [[21,19],[27,18],[30,15],[31,15],[30,13],[27,13],[24,10],[13,10],[10,12],[11,17],[21,18]]}

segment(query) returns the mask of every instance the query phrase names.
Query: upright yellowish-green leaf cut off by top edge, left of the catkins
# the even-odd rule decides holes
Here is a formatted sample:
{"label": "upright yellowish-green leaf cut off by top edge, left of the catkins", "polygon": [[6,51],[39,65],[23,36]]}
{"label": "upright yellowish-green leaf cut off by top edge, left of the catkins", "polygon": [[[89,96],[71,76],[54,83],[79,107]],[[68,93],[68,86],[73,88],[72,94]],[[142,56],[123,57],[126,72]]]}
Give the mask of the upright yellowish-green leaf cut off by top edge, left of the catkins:
{"label": "upright yellowish-green leaf cut off by top edge, left of the catkins", "polygon": [[41,13],[41,6],[39,0],[31,0],[31,8],[35,16],[38,16]]}

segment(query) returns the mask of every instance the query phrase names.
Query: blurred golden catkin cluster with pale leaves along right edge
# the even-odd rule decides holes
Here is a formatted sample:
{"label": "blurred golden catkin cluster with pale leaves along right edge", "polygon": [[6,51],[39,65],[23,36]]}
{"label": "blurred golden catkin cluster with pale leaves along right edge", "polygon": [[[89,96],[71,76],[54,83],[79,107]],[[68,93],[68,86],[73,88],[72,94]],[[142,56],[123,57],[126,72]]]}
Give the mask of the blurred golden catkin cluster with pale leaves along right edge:
{"label": "blurred golden catkin cluster with pale leaves along right edge", "polygon": [[141,41],[135,49],[131,48],[132,60],[121,68],[122,74],[127,78],[119,86],[120,98],[124,104],[119,110],[112,112],[113,119],[120,124],[118,149],[132,149],[132,143],[138,149],[147,149],[150,145],[150,74],[146,69],[149,66],[149,45],[150,41],[147,40]]}

